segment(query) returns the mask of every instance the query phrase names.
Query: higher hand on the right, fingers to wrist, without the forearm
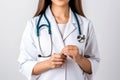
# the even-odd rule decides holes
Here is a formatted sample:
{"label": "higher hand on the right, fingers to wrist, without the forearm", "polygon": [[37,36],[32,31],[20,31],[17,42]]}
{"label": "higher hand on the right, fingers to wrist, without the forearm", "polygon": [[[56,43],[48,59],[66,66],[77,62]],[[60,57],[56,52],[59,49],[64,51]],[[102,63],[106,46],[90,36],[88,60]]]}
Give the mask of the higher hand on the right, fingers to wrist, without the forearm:
{"label": "higher hand on the right, fingers to wrist, without the forearm", "polygon": [[80,59],[79,49],[75,45],[65,46],[61,53],[66,56],[70,56],[76,62]]}

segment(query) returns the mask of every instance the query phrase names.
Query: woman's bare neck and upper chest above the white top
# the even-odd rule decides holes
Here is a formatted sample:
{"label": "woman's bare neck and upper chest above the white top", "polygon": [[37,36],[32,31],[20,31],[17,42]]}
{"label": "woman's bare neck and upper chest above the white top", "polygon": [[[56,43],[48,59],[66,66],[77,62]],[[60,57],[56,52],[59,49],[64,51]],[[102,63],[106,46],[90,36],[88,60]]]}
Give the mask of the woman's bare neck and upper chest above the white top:
{"label": "woman's bare neck and upper chest above the white top", "polygon": [[67,23],[69,19],[69,6],[52,5],[51,10],[57,23]]}

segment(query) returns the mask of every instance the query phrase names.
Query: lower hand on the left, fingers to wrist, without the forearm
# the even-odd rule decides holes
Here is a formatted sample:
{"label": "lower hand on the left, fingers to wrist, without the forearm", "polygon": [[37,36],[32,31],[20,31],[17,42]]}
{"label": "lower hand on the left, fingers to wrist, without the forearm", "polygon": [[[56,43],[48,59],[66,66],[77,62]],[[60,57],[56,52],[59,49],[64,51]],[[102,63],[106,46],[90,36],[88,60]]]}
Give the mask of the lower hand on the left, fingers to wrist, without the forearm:
{"label": "lower hand on the left, fingers to wrist, without the forearm", "polygon": [[64,54],[53,54],[48,60],[48,64],[51,69],[61,67],[66,61]]}

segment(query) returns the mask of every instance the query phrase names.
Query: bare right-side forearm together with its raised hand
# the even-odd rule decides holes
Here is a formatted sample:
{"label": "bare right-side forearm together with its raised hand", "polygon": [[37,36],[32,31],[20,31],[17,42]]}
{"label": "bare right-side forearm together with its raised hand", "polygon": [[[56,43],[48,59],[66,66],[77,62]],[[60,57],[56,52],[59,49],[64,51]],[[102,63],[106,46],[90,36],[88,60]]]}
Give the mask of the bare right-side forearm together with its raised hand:
{"label": "bare right-side forearm together with its raised hand", "polygon": [[79,49],[77,46],[68,45],[65,48],[63,48],[61,53],[66,56],[70,56],[81,67],[81,69],[84,72],[89,74],[92,73],[90,61],[86,57],[79,54]]}

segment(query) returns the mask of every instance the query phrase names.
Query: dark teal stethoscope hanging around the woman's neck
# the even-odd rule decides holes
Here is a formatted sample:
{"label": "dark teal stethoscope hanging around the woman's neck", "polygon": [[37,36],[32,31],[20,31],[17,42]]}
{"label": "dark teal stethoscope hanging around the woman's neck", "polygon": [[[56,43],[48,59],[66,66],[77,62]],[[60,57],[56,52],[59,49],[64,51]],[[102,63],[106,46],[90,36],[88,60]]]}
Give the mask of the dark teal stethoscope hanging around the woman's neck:
{"label": "dark teal stethoscope hanging around the woman's neck", "polygon": [[[77,40],[78,40],[78,42],[83,43],[85,41],[85,35],[83,35],[81,33],[80,23],[79,23],[79,20],[78,20],[78,17],[76,15],[76,13],[73,13],[73,14],[75,16],[75,19],[76,19],[76,22],[77,22],[77,26],[78,26],[78,32],[79,32],[79,35],[77,36]],[[39,25],[42,17],[45,18],[45,20],[47,21],[48,24],[41,24],[41,25]],[[39,31],[40,31],[40,29],[42,27],[47,27],[48,28],[48,34],[49,34],[50,40],[51,40],[51,42],[50,42],[51,49],[50,49],[50,54],[49,55],[44,55],[43,51],[41,49],[41,46],[40,46],[40,37],[39,37],[40,33],[39,33]],[[48,18],[47,18],[45,13],[43,13],[43,14],[41,14],[39,16],[39,19],[38,19],[38,22],[37,22],[37,25],[36,25],[36,31],[37,31],[37,37],[38,37],[38,43],[39,43],[38,45],[39,45],[39,48],[41,50],[41,54],[39,54],[38,57],[44,57],[44,58],[50,57],[52,55],[52,49],[53,49],[52,32],[51,32],[51,24],[50,24],[50,22],[49,22],[49,20],[48,20]]]}

